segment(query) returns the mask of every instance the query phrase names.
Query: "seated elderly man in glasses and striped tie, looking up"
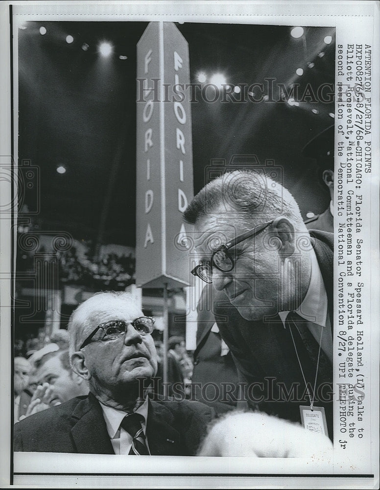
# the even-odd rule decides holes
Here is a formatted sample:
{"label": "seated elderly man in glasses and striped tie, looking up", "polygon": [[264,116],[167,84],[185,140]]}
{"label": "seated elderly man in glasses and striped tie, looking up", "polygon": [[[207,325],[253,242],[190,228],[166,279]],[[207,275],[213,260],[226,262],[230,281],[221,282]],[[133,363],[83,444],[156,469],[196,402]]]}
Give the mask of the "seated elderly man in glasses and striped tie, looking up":
{"label": "seated elderly man in glasses and striped tie, looking up", "polygon": [[15,425],[15,451],[195,455],[213,409],[149,398],[157,372],[154,319],[127,293],[95,294],[69,322],[70,358],[90,393]]}

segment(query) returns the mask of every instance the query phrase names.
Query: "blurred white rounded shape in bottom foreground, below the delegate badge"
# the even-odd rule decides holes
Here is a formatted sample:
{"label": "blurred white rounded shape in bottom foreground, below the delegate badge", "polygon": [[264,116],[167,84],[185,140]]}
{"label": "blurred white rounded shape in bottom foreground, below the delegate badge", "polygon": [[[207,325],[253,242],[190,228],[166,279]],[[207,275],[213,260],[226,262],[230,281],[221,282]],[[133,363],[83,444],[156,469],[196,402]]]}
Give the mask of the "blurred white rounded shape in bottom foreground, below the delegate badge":
{"label": "blurred white rounded shape in bottom foreground, below the delegate badge", "polygon": [[198,456],[332,459],[333,443],[302,425],[262,412],[229,412],[216,419]]}

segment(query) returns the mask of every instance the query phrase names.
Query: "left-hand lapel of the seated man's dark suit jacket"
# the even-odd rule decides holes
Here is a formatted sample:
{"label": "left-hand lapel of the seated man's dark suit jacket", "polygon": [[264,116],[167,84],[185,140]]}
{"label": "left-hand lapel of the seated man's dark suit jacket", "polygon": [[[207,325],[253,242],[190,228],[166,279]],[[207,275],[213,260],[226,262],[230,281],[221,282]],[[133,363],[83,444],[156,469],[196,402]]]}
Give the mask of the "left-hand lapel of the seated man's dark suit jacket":
{"label": "left-hand lapel of the seated man's dark suit jacket", "polygon": [[115,454],[103,411],[92,393],[84,405],[75,407],[72,417],[77,419],[71,436],[78,453]]}

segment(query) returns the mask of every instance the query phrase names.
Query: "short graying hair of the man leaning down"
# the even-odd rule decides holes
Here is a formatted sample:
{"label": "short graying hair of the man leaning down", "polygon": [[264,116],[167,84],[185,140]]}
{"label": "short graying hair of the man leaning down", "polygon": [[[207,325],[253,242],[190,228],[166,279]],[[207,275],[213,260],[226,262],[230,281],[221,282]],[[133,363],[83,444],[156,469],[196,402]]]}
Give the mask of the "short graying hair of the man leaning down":
{"label": "short graying hair of the man leaning down", "polygon": [[221,205],[226,206],[226,212],[232,207],[249,220],[262,217],[273,220],[285,216],[297,228],[305,228],[294,197],[263,172],[236,170],[216,177],[193,198],[183,218],[195,224],[199,218],[216,211]]}

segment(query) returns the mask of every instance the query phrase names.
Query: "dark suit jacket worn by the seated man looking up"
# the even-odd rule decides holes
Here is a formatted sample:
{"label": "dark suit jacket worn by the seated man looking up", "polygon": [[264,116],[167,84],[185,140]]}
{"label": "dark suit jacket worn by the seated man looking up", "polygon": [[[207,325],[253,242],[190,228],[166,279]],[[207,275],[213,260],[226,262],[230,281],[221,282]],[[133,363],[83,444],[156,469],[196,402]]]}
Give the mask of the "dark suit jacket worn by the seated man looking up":
{"label": "dark suit jacket worn by the seated man looking up", "polygon": [[[152,455],[192,456],[214,411],[188,400],[149,400],[146,437]],[[14,426],[15,451],[114,454],[95,396],[72,398]]]}

